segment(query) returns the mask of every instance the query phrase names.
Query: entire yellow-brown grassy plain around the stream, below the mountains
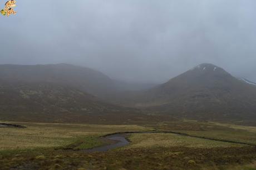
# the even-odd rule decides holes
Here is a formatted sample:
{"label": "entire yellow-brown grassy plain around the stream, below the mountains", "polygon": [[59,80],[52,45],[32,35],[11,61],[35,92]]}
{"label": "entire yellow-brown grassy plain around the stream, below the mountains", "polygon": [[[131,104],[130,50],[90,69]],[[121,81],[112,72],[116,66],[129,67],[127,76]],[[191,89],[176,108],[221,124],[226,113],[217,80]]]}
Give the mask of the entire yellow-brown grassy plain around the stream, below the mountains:
{"label": "entire yellow-brown grassy plain around the stream, below the mountains", "polygon": [[153,129],[254,143],[255,127],[196,121],[144,126],[8,123],[27,128],[0,128],[0,169],[255,169],[255,147],[177,134],[130,134],[126,147],[82,150],[107,144],[100,137],[105,134]]}

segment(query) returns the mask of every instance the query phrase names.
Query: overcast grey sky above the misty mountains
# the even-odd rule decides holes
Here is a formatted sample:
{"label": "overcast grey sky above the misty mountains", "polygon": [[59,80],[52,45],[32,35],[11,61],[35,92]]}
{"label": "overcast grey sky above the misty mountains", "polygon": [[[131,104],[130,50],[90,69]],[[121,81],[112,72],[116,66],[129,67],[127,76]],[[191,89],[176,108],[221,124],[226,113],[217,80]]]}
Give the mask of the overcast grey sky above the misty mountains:
{"label": "overcast grey sky above the misty mountains", "polygon": [[0,17],[0,64],[72,63],[164,82],[213,63],[256,81],[255,0],[16,1],[16,16]]}

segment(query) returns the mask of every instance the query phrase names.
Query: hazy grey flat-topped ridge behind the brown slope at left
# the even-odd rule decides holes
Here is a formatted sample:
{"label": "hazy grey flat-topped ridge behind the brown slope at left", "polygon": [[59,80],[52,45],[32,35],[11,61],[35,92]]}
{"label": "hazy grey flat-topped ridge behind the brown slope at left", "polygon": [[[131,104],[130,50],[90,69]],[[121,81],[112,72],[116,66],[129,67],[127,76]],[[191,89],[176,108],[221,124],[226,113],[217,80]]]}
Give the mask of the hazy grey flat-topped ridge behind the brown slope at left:
{"label": "hazy grey flat-topped ridge behind the brown slope at left", "polygon": [[0,65],[0,82],[53,83],[80,89],[100,98],[117,91],[139,90],[155,84],[117,81],[91,68],[72,64]]}

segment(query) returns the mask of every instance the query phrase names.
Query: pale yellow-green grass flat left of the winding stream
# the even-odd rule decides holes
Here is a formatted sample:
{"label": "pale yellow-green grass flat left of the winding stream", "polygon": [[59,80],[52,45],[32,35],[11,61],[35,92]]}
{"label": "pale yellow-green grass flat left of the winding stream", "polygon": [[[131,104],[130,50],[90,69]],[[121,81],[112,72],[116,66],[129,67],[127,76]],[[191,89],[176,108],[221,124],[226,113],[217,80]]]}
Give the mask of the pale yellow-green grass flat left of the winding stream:
{"label": "pale yellow-green grass flat left of the winding stream", "polygon": [[81,143],[80,147],[90,148],[102,144],[99,137],[107,133],[149,130],[149,128],[137,125],[8,123],[22,124],[27,128],[0,128],[0,151],[66,147],[72,143]]}

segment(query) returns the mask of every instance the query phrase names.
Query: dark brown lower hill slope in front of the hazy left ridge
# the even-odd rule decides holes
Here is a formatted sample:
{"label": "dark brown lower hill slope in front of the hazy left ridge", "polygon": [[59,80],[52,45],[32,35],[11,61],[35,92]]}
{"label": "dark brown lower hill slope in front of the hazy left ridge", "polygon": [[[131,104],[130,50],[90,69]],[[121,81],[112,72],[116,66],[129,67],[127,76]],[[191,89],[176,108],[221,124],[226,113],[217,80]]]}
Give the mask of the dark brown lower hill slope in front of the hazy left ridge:
{"label": "dark brown lower hill slope in front of the hazy left ridge", "polygon": [[147,116],[138,109],[109,104],[59,84],[0,84],[1,121],[140,124],[159,119],[163,117]]}

